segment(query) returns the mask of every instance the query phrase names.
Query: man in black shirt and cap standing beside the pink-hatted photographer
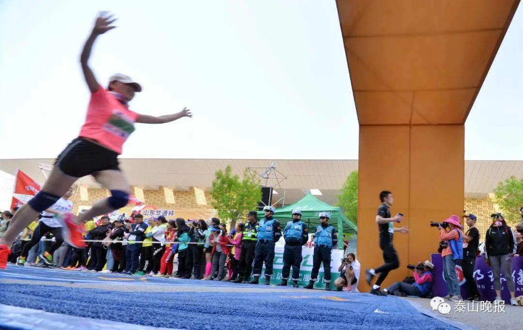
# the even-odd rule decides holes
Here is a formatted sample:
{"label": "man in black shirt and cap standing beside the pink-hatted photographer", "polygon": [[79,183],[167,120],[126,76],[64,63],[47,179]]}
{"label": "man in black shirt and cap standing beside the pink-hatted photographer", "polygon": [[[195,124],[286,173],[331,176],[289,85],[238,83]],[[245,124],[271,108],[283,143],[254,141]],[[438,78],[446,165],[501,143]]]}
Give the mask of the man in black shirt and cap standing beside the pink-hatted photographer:
{"label": "man in black shirt and cap standing beside the pink-hatted photographer", "polygon": [[480,245],[480,232],[476,228],[477,217],[469,214],[465,217],[465,222],[469,230],[463,236],[463,277],[465,286],[469,292],[468,300],[480,300],[480,292],[477,291],[476,281],[474,280],[474,266],[476,265],[477,246]]}

